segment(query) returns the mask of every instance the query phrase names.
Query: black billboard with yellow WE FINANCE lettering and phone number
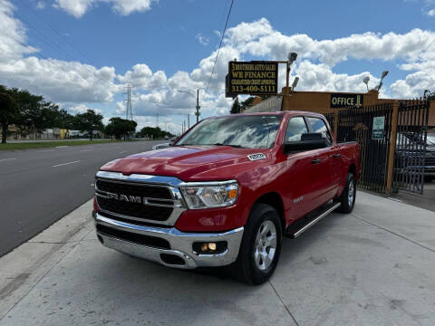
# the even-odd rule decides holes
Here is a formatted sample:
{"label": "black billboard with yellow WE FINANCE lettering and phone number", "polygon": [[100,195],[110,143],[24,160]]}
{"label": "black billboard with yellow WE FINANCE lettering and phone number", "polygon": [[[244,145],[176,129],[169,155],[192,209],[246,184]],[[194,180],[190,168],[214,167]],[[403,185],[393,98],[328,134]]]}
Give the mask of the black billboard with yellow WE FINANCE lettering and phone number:
{"label": "black billboard with yellow WE FINANCE lettering and phone number", "polygon": [[268,95],[277,92],[277,62],[228,62],[228,95]]}

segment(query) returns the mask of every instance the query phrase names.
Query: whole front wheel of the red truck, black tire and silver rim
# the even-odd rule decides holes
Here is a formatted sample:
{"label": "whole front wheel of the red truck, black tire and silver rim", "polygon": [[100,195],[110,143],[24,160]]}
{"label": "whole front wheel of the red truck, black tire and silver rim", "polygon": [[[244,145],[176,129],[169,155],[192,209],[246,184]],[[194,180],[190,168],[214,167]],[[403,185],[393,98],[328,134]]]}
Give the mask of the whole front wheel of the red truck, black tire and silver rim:
{"label": "whole front wheel of the red truck, black tire and silver rim", "polygon": [[275,272],[281,253],[282,226],[275,208],[257,203],[253,206],[233,270],[248,284],[265,283]]}

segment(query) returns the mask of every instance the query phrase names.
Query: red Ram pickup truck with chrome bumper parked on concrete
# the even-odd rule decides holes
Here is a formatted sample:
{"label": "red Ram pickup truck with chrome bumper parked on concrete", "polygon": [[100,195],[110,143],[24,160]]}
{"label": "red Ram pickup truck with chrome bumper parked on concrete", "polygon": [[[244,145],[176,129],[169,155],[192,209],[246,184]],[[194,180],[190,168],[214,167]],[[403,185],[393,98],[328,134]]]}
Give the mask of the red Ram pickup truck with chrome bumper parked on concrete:
{"label": "red Ram pickup truck with chrome bumper parked on concrete", "polygon": [[359,174],[359,145],[337,144],[320,114],[214,117],[167,149],[104,165],[93,216],[102,245],[170,267],[229,265],[259,284],[283,236],[352,211]]}

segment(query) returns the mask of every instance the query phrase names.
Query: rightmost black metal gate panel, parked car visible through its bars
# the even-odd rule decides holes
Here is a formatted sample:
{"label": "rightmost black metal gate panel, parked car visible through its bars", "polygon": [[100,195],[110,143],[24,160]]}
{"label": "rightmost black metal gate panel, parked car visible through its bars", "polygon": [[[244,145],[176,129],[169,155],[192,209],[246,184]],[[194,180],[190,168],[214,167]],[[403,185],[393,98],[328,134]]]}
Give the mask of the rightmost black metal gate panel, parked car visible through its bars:
{"label": "rightmost black metal gate panel, parked car visible through its bars", "polygon": [[394,152],[393,191],[423,193],[430,101],[401,101]]}

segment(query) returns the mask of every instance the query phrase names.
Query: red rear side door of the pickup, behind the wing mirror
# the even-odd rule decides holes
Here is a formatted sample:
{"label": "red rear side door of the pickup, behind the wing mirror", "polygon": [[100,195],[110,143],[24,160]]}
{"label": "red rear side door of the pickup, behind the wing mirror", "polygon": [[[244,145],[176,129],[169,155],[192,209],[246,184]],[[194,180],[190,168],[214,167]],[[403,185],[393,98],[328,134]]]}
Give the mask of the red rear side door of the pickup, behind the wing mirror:
{"label": "red rear side door of the pickup, behind the wing mirror", "polygon": [[305,118],[310,132],[320,132],[327,140],[328,147],[310,151],[313,158],[312,173],[314,177],[314,206],[318,207],[333,198],[336,193],[335,171],[333,168],[333,137],[323,119],[317,117]]}

